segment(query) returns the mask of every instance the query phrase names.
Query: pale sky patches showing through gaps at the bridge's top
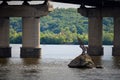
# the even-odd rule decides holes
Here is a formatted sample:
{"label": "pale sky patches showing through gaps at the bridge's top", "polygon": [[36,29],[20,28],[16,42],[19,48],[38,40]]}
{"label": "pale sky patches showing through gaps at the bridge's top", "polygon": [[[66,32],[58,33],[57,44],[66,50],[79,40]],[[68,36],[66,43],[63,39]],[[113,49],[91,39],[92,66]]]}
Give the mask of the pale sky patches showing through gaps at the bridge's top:
{"label": "pale sky patches showing through gaps at the bridge's top", "polygon": [[[0,1],[1,3],[1,1]],[[21,1],[10,1],[8,2],[10,5],[19,5],[22,4]],[[42,1],[32,1],[31,4],[39,4],[43,3]],[[66,4],[66,3],[58,3],[58,2],[50,2],[50,4],[53,5],[54,8],[79,8],[80,5],[74,5],[74,4]]]}

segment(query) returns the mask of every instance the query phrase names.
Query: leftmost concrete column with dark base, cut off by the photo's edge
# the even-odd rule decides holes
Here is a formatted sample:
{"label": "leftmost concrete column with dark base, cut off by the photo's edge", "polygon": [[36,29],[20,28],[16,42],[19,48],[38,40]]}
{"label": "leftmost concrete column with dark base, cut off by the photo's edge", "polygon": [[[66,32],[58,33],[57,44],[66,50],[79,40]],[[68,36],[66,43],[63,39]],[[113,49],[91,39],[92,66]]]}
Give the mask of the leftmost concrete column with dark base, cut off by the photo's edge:
{"label": "leftmost concrete column with dark base, cut off by the photo's edge", "polygon": [[0,57],[11,57],[9,47],[9,18],[0,18]]}

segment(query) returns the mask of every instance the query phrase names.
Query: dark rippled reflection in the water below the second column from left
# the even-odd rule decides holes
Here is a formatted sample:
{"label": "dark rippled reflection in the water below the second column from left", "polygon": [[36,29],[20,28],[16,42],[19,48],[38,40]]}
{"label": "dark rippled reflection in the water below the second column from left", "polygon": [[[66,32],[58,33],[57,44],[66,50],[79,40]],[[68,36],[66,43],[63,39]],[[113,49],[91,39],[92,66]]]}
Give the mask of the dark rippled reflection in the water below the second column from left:
{"label": "dark rippled reflection in the water below the second column from left", "polygon": [[22,78],[25,80],[39,80],[39,58],[23,58],[22,59],[24,68],[21,70]]}

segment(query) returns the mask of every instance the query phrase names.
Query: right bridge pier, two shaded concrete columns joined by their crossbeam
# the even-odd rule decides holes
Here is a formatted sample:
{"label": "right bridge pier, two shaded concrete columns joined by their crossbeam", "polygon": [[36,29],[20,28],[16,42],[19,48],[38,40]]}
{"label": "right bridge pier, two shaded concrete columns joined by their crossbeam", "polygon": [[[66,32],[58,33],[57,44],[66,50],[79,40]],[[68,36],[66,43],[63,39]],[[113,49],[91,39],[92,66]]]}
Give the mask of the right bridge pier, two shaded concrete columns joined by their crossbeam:
{"label": "right bridge pier, two shaded concrete columns joined by their crossbeam", "polygon": [[102,18],[113,17],[114,19],[114,40],[113,56],[120,56],[120,7],[114,8],[79,8],[78,12],[88,17],[89,21],[89,44],[88,53],[90,55],[103,55],[102,48]]}

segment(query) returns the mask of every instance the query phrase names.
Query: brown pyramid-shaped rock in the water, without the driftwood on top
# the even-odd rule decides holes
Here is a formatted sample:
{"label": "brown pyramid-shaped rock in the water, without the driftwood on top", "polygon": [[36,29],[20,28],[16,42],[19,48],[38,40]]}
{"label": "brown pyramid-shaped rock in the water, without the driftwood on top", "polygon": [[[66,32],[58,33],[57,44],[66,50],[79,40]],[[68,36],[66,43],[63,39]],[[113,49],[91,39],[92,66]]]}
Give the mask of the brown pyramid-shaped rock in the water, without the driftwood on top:
{"label": "brown pyramid-shaped rock in the water, without the driftwood on top", "polygon": [[73,59],[68,66],[70,68],[93,68],[94,62],[88,54],[81,54]]}

